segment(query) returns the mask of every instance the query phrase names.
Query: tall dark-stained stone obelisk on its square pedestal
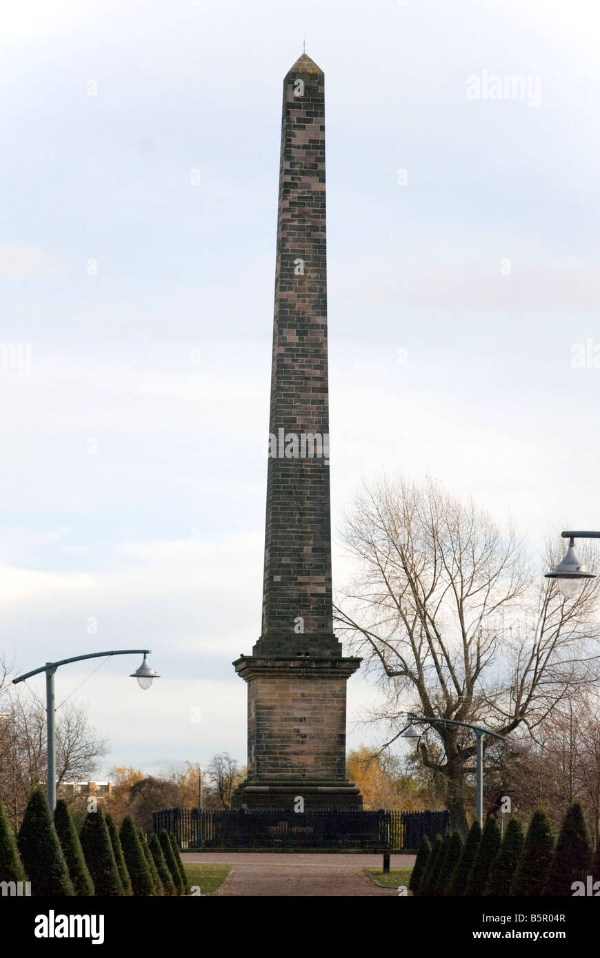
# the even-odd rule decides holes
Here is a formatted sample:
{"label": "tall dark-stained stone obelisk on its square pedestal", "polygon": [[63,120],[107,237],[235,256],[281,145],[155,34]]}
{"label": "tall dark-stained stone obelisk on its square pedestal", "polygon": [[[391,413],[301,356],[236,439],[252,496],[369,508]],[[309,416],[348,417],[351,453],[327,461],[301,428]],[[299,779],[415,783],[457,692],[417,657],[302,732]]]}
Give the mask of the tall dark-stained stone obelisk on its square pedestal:
{"label": "tall dark-stained stone obelisk on its square pedestal", "polygon": [[328,389],[325,77],[303,54],[284,80],[263,627],[234,662],[248,683],[248,808],[362,804],[345,774],[360,659],[333,629]]}

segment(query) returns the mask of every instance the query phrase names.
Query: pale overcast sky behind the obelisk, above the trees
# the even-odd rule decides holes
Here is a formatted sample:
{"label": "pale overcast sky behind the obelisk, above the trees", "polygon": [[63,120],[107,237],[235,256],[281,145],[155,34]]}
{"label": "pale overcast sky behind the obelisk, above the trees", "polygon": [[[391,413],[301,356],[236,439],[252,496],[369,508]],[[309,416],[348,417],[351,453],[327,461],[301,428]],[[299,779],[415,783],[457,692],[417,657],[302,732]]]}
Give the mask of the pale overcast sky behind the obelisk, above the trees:
{"label": "pale overcast sky behind the obelisk, above the trees", "polygon": [[[111,740],[100,774],[245,761],[231,662],[261,627],[304,39],[326,75],[335,540],[381,469],[510,513],[534,552],[600,528],[599,20],[594,0],[5,5],[0,650],[22,672],[154,650],[149,692],[133,657],[76,694]],[[493,99],[513,75],[524,95]],[[57,701],[94,668],[59,671]],[[351,744],[374,696],[349,682]]]}

